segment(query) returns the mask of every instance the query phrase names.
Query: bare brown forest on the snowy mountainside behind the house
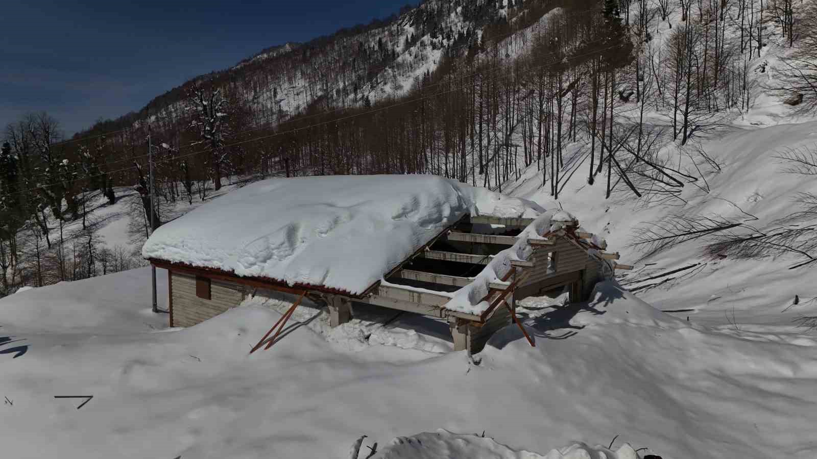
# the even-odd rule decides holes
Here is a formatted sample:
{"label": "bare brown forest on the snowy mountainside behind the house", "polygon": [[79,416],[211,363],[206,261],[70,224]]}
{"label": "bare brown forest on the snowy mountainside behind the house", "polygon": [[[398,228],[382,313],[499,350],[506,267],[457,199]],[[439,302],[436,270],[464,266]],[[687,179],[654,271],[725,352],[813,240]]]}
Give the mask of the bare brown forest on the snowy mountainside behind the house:
{"label": "bare brown forest on the snowy mountainside behind the house", "polygon": [[[114,189],[133,190],[141,240],[171,204],[270,176],[430,173],[501,191],[535,167],[553,198],[581,179],[600,199],[672,203],[718,167],[696,140],[759,91],[817,108],[815,18],[815,0],[436,0],[195,78],[71,139],[26,115],[2,131],[0,296],[140,263],[86,221]],[[770,42],[784,51],[764,80]]]}

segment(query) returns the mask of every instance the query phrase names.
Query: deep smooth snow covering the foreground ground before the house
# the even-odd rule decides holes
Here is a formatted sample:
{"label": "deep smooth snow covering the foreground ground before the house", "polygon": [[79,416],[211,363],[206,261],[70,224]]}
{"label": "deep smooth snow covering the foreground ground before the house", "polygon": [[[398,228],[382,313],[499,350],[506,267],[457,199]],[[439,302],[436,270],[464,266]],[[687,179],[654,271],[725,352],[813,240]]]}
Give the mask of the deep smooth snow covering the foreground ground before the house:
{"label": "deep smooth snow covering the foreground ground before the house", "polygon": [[[367,434],[365,457],[375,441],[385,453],[395,437],[440,428],[484,431],[485,440],[462,448],[484,453],[476,449],[484,441],[507,452],[490,437],[507,444],[510,457],[526,450],[559,458],[548,452],[574,442],[607,446],[616,435],[613,451],[623,443],[649,448],[642,457],[817,456],[817,338],[806,332],[687,322],[604,283],[581,308],[520,301],[536,347],[513,325],[489,341],[478,365],[464,353],[401,349],[415,347],[400,330],[406,325],[386,323],[395,314],[382,309],[379,323],[359,322],[350,346],[355,323],[331,334],[315,305],[299,307],[270,350],[248,355],[287,301],[272,308],[248,301],[191,328],[154,330],[141,315],[150,307],[150,270],[127,274],[0,299],[0,337],[27,346],[17,358],[0,354],[0,399],[13,403],[0,403],[6,456],[346,458]],[[84,303],[65,301],[79,287]],[[59,308],[65,314],[50,317]],[[72,314],[88,321],[85,331],[60,326]],[[97,315],[107,319],[95,324]],[[32,318],[42,322],[36,330]],[[445,323],[414,318],[411,327],[427,338],[418,346],[448,332]],[[398,345],[384,342],[389,333]],[[93,399],[77,409],[83,399],[54,395]],[[468,442],[458,438],[444,443]],[[560,454],[615,457],[581,445],[571,457],[569,448]]]}

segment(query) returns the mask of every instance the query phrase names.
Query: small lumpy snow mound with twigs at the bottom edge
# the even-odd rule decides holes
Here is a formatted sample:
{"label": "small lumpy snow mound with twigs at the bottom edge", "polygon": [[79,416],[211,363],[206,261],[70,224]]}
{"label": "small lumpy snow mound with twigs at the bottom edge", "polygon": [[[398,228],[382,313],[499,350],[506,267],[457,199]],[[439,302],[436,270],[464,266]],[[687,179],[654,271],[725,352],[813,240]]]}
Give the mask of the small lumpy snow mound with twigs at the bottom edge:
{"label": "small lumpy snow mound with twigs at the bottom edge", "polygon": [[373,456],[374,459],[638,459],[635,450],[627,444],[618,451],[602,446],[591,448],[585,443],[574,443],[566,448],[553,449],[545,456],[535,452],[515,451],[493,439],[475,434],[453,434],[440,429],[411,437],[397,437],[391,445]]}

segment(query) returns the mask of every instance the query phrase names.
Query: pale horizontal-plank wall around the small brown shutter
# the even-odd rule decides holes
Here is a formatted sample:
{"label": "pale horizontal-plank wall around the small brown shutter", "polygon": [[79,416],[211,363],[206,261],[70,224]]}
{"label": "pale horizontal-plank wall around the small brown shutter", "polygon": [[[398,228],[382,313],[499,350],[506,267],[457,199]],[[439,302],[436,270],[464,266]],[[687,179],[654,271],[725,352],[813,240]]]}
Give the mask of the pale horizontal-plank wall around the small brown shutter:
{"label": "pale horizontal-plank wall around the small brown shutter", "polygon": [[196,296],[194,275],[172,271],[170,280],[171,327],[190,327],[215,317],[239,305],[245,296],[243,285],[212,279],[210,300],[204,300]]}

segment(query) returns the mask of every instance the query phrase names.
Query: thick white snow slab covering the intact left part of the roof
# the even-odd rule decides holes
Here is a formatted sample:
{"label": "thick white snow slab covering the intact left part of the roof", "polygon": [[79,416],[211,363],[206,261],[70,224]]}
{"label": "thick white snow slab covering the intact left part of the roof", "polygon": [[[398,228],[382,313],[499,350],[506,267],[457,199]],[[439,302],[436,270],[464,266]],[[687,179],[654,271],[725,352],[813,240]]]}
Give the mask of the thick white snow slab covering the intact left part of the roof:
{"label": "thick white snow slab covering the intact left part of the roof", "polygon": [[163,225],[142,254],[357,294],[467,212],[543,211],[439,176],[270,179]]}

